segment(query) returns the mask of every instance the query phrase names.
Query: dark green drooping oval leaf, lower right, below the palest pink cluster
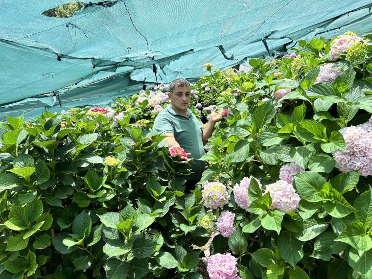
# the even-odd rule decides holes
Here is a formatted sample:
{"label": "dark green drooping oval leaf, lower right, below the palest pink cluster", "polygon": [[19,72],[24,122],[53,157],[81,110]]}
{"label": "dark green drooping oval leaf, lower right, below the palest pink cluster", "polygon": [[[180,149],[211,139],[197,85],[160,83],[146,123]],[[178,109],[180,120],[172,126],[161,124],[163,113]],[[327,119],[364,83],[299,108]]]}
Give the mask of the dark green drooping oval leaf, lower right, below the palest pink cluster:
{"label": "dark green drooping oval leaf, lower right, below the palest pink cluster", "polygon": [[303,243],[296,239],[296,233],[282,232],[278,237],[280,256],[292,266],[295,266],[303,257]]}

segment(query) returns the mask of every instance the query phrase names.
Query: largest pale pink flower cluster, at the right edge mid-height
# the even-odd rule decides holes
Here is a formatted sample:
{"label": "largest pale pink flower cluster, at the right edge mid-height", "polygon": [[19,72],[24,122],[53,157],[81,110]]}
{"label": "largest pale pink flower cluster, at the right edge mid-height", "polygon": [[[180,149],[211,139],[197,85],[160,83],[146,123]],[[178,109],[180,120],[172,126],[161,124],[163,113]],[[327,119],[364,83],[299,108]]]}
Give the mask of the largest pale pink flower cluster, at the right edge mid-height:
{"label": "largest pale pink flower cluster, at the right edge mid-height", "polygon": [[362,176],[372,175],[372,124],[364,123],[340,130],[345,150],[336,150],[336,167],[343,172],[359,170]]}

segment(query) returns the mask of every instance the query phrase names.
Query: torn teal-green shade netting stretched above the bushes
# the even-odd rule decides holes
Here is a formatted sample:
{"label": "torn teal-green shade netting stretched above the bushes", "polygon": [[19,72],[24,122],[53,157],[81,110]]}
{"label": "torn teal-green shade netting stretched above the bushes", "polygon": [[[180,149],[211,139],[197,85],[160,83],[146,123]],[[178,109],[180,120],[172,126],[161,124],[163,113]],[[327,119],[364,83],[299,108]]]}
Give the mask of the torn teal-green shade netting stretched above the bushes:
{"label": "torn teal-green shade netting stretched above the bushes", "polygon": [[[367,0],[0,0],[0,117],[105,105],[142,84],[285,53],[299,40],[372,31]],[[264,44],[267,45],[267,48]],[[60,61],[57,60],[60,58]]]}

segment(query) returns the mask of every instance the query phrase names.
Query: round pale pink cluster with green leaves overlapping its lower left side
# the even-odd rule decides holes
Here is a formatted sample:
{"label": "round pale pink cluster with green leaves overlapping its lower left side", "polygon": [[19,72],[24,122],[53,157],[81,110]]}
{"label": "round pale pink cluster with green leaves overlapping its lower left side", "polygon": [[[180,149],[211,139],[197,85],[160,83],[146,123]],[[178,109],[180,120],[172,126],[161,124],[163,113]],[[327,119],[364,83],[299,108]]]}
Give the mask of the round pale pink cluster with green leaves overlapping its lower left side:
{"label": "round pale pink cluster with green leaves overlapping its lower left side", "polygon": [[270,192],[273,200],[270,209],[278,209],[281,212],[295,211],[300,202],[300,196],[296,193],[292,184],[279,180],[275,183],[266,185],[266,191]]}

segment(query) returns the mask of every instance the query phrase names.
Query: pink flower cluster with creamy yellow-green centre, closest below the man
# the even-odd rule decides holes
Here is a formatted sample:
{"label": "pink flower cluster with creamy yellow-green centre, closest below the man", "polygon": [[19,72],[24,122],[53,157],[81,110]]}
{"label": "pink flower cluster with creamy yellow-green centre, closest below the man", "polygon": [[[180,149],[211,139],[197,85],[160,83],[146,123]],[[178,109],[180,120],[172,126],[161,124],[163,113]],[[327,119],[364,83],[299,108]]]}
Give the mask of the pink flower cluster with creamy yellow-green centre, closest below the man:
{"label": "pink flower cluster with creamy yellow-green centre, closest below the man", "polygon": [[204,206],[210,209],[218,209],[229,203],[230,196],[226,186],[221,182],[207,181],[203,184],[202,195]]}

